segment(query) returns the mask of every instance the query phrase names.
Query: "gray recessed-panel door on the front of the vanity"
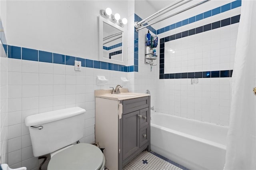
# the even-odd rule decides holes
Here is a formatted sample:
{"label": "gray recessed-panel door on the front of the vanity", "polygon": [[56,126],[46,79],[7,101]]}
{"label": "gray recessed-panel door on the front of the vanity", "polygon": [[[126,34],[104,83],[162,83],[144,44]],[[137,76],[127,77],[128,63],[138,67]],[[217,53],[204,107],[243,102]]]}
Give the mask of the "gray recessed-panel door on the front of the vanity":
{"label": "gray recessed-panel door on the front of the vanity", "polygon": [[140,111],[123,115],[123,160],[139,149]]}

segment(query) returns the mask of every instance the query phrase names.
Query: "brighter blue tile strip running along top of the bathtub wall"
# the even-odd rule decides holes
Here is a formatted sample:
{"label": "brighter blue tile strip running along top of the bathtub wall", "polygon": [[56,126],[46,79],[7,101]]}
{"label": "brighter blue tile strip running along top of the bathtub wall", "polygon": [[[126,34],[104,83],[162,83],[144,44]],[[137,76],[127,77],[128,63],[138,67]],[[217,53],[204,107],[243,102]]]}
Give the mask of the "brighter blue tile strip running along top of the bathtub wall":
{"label": "brighter blue tile strip running along top of the bathtub wall", "polygon": [[185,20],[176,22],[176,23],[171,24],[169,26],[165,26],[164,28],[160,28],[160,29],[156,30],[155,34],[158,35],[158,34],[167,32],[169,30],[173,30],[175,28],[179,28],[181,26],[184,26],[184,25],[191,24],[193,22],[202,20],[204,18],[208,18],[208,17],[214,16],[214,15],[220,14],[222,12],[226,12],[228,10],[232,10],[234,8],[238,8],[240,6],[241,6],[241,0],[236,0],[236,1],[230,2],[228,4],[222,5],[222,6],[218,7],[218,8],[214,8],[212,10],[203,12],[203,13],[198,14],[196,16],[192,16],[192,17],[187,18]]}

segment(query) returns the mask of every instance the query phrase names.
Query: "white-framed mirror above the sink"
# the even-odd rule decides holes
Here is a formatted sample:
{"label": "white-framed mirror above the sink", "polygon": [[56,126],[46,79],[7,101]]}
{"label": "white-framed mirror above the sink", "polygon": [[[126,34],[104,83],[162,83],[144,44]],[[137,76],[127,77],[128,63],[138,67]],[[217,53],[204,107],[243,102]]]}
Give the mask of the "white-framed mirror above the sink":
{"label": "white-framed mirror above the sink", "polygon": [[126,65],[124,29],[99,16],[99,60]]}

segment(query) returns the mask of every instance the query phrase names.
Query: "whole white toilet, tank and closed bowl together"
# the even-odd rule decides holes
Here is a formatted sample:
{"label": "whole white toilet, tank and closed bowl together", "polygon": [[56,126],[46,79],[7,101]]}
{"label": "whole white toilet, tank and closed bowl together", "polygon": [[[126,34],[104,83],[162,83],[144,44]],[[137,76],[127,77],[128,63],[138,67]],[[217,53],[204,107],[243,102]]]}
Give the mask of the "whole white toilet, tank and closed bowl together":
{"label": "whole white toilet, tank and closed bowl together", "polygon": [[84,112],[73,107],[26,117],[34,156],[51,155],[48,170],[104,170],[100,148],[86,143],[73,145],[83,137]]}

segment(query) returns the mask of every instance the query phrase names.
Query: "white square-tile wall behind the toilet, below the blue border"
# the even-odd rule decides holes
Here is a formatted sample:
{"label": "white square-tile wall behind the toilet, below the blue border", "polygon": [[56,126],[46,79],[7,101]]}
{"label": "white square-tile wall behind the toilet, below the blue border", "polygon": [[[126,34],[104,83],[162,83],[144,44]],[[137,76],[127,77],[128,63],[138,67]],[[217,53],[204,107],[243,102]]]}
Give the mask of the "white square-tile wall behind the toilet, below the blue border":
{"label": "white square-tile wall behind the toilet, below the blue border", "polygon": [[[127,73],[119,71],[82,67],[81,72],[76,72],[74,66],[70,65],[8,59],[8,65],[12,64],[21,68],[10,69],[8,72],[8,164],[12,168],[26,166],[33,169],[39,166],[38,159],[32,154],[28,127],[24,124],[27,116],[68,107],[82,107],[86,109],[86,113],[84,137],[80,142],[92,143],[95,123],[94,90],[115,87],[121,83],[120,77],[127,77]],[[33,67],[28,69],[29,65]],[[109,83],[97,86],[97,75],[106,76]]]}

